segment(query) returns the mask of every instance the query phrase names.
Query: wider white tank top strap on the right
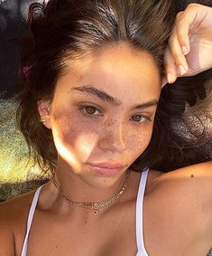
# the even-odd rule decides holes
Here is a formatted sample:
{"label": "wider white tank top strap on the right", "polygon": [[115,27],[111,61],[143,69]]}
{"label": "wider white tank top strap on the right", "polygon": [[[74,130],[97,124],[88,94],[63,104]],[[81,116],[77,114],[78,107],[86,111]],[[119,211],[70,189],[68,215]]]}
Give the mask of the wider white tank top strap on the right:
{"label": "wider white tank top strap on the right", "polygon": [[138,248],[137,256],[148,256],[143,241],[143,197],[145,193],[148,173],[149,168],[143,169],[136,201],[136,240]]}

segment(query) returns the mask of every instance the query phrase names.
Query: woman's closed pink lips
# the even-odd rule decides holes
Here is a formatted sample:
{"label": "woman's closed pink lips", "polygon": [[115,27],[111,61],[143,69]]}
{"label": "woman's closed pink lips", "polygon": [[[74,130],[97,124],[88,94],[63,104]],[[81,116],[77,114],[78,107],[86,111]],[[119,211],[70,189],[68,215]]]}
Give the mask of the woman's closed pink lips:
{"label": "woman's closed pink lips", "polygon": [[126,166],[120,164],[101,163],[101,164],[88,164],[89,168],[97,175],[116,175],[122,173]]}

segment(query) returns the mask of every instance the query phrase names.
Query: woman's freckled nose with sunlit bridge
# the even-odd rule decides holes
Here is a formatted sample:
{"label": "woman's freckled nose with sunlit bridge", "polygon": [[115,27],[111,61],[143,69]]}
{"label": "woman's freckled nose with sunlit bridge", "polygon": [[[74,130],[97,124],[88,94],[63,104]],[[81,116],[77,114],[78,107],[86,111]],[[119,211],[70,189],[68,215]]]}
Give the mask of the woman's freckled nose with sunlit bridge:
{"label": "woman's freckled nose with sunlit bridge", "polygon": [[121,152],[126,147],[127,128],[122,121],[111,121],[104,125],[99,147],[102,149]]}

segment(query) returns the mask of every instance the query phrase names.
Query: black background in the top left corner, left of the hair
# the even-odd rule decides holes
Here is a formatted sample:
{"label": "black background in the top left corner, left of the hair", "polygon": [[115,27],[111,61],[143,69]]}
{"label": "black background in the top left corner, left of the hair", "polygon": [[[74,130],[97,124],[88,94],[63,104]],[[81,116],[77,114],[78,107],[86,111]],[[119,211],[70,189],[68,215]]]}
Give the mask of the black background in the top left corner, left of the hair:
{"label": "black background in the top left corner, left of the hair", "polygon": [[[28,6],[33,0],[0,0],[0,93],[14,95],[18,82],[20,49],[13,39],[28,33]],[[37,1],[41,2],[41,1]]]}

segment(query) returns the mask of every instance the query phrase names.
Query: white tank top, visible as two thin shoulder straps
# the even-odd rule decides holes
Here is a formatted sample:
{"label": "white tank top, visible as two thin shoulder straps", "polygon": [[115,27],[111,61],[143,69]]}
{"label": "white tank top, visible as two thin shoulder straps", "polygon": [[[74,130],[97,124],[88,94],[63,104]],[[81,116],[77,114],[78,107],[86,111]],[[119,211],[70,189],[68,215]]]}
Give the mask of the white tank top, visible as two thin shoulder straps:
{"label": "white tank top, visible as two thin shoulder straps", "polygon": [[[148,256],[144,247],[144,242],[143,242],[143,196],[145,192],[148,172],[149,172],[149,169],[143,170],[139,189],[138,189],[137,201],[136,201],[136,242],[137,242],[137,249],[138,249],[136,256]],[[32,225],[33,214],[35,212],[36,205],[38,203],[38,198],[41,193],[41,187],[42,185],[36,190],[33,196],[30,212],[28,215],[27,229],[26,229],[26,234],[23,242],[23,250],[22,250],[21,256],[27,256],[27,244],[28,244],[29,233]]]}

